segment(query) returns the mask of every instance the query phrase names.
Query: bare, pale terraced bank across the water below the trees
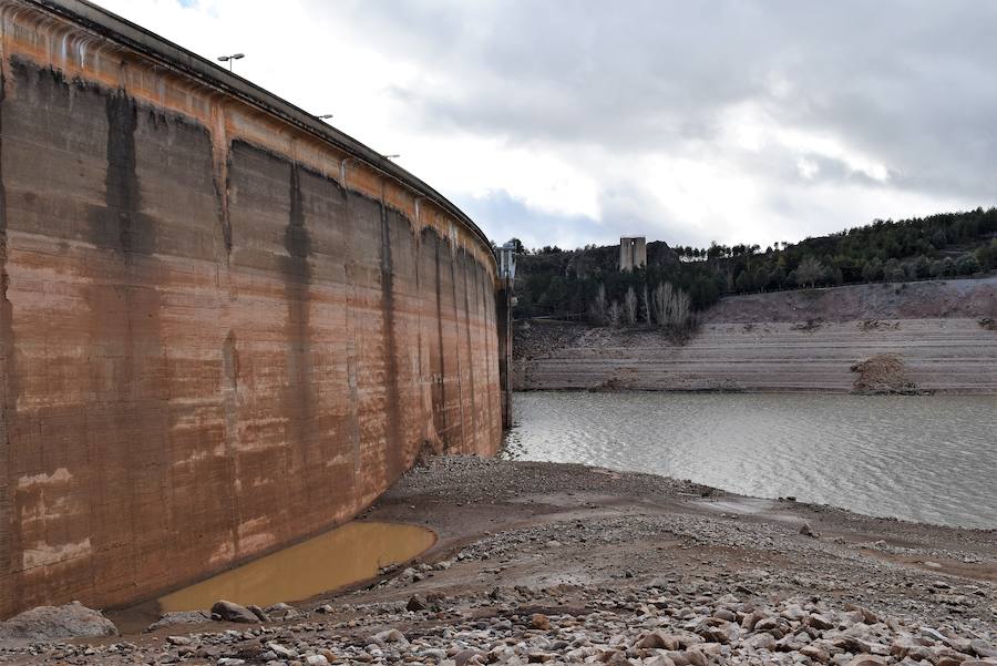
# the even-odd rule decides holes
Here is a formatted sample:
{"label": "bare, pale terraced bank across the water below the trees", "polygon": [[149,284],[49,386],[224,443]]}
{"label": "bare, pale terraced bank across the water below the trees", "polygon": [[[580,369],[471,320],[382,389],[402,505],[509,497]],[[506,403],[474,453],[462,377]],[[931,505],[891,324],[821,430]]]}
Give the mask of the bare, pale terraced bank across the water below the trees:
{"label": "bare, pale terraced bank across the water below the trees", "polygon": [[521,390],[997,393],[995,315],[989,278],[728,298],[682,345],[657,330],[531,321],[517,330],[514,382]]}

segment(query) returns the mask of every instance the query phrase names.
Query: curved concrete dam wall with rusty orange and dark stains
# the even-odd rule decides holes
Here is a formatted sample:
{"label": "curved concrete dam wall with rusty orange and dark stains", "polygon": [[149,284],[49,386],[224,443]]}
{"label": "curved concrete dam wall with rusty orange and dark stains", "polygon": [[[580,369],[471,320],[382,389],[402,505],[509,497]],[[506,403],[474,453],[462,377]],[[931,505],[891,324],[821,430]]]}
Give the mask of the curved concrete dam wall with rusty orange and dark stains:
{"label": "curved concrete dam wall with rusty orange and dark stains", "polygon": [[370,148],[86,3],[0,0],[0,617],[147,597],[491,454],[495,262]]}

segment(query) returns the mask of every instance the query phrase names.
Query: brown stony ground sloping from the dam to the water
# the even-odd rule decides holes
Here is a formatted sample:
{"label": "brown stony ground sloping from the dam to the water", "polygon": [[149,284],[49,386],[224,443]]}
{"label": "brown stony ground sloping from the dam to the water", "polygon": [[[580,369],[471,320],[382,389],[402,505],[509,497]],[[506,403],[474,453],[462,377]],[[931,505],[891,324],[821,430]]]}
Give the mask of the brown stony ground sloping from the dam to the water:
{"label": "brown stony ground sloping from the dam to the water", "polygon": [[0,660],[997,664],[995,531],[472,458],[431,459],[362,519],[424,524],[440,541],[356,588],[257,609],[266,622],[218,606],[228,621],[205,611],[124,636],[9,639]]}

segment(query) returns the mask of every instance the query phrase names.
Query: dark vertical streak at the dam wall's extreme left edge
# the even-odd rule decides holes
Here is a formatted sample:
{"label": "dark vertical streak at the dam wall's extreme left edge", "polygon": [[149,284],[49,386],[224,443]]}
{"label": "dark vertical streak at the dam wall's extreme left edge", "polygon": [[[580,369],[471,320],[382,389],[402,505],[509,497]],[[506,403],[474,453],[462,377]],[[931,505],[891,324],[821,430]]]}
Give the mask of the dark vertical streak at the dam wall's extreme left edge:
{"label": "dark vertical streak at the dam wall's extreme left edge", "polygon": [[[0,49],[2,57],[2,49]],[[0,574],[4,581],[13,570],[11,539],[11,429],[17,411],[17,369],[14,367],[13,308],[8,298],[10,276],[7,273],[7,188],[3,185],[3,103],[6,78],[0,71]],[[11,585],[0,585],[0,617],[13,608]]]}

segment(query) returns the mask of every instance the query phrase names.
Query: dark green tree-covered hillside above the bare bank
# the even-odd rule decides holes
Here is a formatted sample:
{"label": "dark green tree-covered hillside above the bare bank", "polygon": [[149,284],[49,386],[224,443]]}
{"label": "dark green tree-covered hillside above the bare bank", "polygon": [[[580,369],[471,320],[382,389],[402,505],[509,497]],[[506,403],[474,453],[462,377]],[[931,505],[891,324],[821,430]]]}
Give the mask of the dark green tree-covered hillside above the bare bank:
{"label": "dark green tree-covered hillside above the bare bank", "polygon": [[634,271],[619,271],[618,258],[616,245],[523,248],[516,317],[683,328],[724,295],[972,276],[997,269],[997,208],[877,219],[764,250],[648,243],[647,266]]}

